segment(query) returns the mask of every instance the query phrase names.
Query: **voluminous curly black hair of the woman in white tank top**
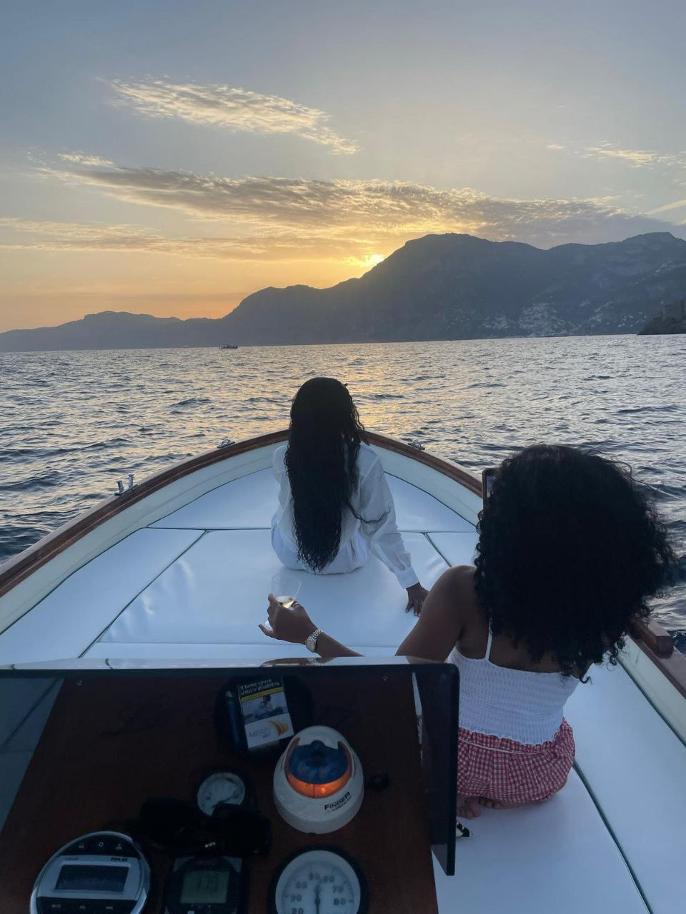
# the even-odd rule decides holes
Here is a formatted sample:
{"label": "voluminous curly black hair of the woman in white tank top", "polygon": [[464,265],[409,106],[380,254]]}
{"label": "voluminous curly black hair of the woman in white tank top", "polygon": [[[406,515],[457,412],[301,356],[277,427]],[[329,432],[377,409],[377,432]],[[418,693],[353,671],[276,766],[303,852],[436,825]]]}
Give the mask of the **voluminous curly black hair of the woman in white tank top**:
{"label": "voluminous curly black hair of the woman in white tank top", "polygon": [[479,514],[475,587],[493,634],[583,676],[616,664],[675,560],[630,471],[591,451],[538,444],[505,460]]}

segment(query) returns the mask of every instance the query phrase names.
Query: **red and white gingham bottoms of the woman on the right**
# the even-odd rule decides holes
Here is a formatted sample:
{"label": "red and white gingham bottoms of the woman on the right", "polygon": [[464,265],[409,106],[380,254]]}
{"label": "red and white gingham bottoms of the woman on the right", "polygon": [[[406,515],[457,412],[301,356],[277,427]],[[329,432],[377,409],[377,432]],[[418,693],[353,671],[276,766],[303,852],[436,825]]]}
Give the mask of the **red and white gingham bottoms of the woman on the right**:
{"label": "red and white gingham bottoms of the woman on the right", "polygon": [[553,739],[529,746],[459,728],[457,792],[505,803],[546,800],[561,790],[574,760],[572,728],[563,719]]}

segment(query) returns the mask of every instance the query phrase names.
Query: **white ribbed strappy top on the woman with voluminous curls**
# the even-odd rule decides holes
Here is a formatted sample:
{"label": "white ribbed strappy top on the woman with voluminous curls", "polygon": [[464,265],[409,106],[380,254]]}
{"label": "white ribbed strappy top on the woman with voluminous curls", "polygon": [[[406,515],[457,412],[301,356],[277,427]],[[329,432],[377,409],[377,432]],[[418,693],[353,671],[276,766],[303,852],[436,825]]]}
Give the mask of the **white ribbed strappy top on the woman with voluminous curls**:
{"label": "white ribbed strappy top on the woman with voluminous curls", "polygon": [[488,629],[485,657],[466,657],[456,647],[450,654],[460,671],[459,726],[530,746],[553,739],[563,722],[564,703],[579,680],[493,664],[492,641]]}

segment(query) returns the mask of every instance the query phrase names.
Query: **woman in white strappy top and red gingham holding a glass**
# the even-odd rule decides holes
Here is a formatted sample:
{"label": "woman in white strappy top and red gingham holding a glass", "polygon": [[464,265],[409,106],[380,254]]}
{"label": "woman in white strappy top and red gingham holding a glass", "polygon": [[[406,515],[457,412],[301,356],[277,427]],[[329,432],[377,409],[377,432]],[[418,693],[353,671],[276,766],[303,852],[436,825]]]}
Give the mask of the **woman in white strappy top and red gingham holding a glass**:
{"label": "woman in white strappy top and red gingham holding a glass", "polygon": [[[652,503],[618,464],[535,445],[502,463],[479,515],[474,568],[436,581],[398,654],[460,670],[461,816],[538,802],[574,757],[563,707],[592,664],[616,664],[674,561]],[[273,632],[324,657],[353,654],[296,604],[270,597]],[[310,642],[311,643],[311,642]]]}

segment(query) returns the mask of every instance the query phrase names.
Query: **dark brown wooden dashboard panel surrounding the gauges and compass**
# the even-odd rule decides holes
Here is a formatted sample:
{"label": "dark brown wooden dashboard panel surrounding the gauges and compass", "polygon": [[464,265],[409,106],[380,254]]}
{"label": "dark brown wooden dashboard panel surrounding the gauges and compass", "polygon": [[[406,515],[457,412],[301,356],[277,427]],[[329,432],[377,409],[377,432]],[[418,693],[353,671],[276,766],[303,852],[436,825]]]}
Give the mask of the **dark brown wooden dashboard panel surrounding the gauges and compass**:
{"label": "dark brown wooden dashboard panel surrounding the gauges and compass", "polygon": [[[67,679],[0,834],[3,914],[27,914],[41,866],[61,845],[105,827],[127,831],[150,797],[193,801],[204,775],[227,766],[250,777],[273,827],[269,856],[252,858],[249,910],[264,914],[276,866],[295,850],[335,845],[359,862],[370,914],[436,914],[429,824],[409,675],[357,670],[355,688],[317,676],[313,722],[338,729],[357,750],[368,790],[340,831],[301,834],[276,813],[273,760],[252,762],[227,748],[214,726],[225,677],[88,676]],[[149,853],[153,891],[145,914],[160,914],[170,861]]]}

